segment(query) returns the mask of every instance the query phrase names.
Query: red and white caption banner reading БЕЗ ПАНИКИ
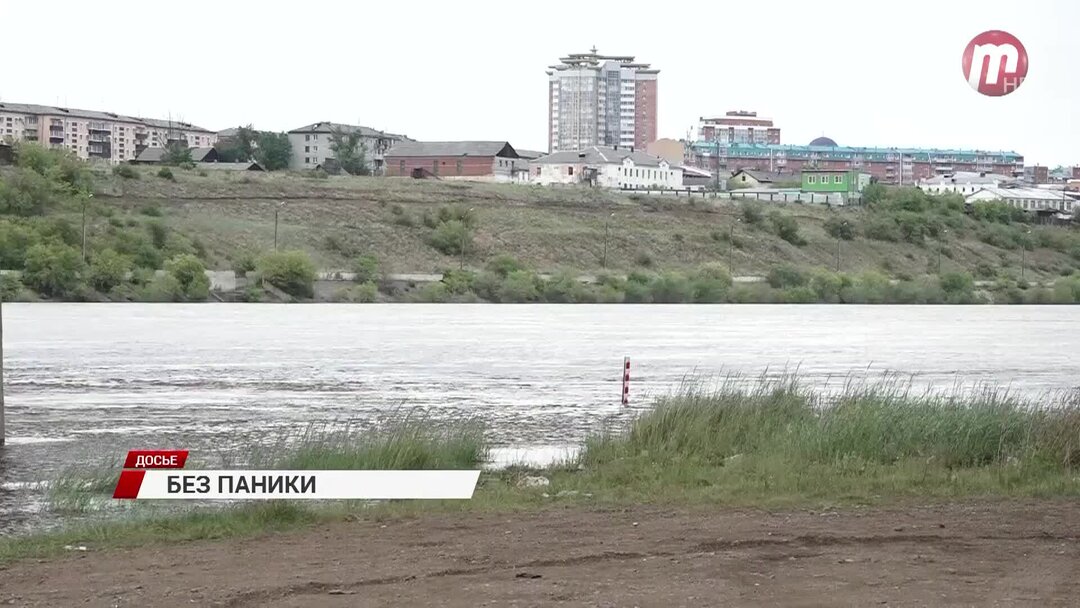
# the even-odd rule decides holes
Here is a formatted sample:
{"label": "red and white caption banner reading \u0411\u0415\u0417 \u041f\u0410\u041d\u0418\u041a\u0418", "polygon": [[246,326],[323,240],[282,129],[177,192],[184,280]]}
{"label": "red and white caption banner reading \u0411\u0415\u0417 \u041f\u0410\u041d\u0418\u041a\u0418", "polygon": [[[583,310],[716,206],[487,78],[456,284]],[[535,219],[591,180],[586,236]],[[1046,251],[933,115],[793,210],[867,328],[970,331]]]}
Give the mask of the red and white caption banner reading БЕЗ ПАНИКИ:
{"label": "red and white caption banner reading \u0411\u0415\u0417 \u041f\u0410\u041d\u0418\u041a\u0418", "polygon": [[127,452],[112,498],[137,500],[471,499],[480,471],[190,470],[186,449]]}

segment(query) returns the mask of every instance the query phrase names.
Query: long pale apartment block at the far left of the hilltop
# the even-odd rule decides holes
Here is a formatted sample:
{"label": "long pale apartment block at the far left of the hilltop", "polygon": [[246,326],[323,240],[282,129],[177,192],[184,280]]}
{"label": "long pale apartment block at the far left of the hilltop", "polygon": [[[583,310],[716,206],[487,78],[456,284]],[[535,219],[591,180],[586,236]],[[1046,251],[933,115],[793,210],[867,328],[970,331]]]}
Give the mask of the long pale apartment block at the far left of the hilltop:
{"label": "long pale apartment block at the far left of the hilltop", "polygon": [[217,135],[181,121],[2,102],[0,139],[37,141],[69,150],[81,159],[119,163],[134,160],[147,148],[172,143],[189,148],[213,146]]}

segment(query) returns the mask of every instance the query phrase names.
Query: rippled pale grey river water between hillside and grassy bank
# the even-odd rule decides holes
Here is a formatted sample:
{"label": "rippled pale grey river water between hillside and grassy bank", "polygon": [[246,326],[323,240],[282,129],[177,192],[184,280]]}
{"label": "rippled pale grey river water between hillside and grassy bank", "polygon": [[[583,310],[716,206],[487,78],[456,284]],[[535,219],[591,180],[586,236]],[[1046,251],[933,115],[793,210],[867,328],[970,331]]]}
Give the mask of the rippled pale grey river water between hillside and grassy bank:
{"label": "rippled pale grey river water between hillside and grassy bank", "polygon": [[[550,456],[690,378],[903,373],[1038,395],[1080,383],[1080,307],[3,306],[0,531],[27,484],[131,447],[194,455],[310,423],[478,418],[502,459]],[[632,407],[620,405],[631,357]]]}

